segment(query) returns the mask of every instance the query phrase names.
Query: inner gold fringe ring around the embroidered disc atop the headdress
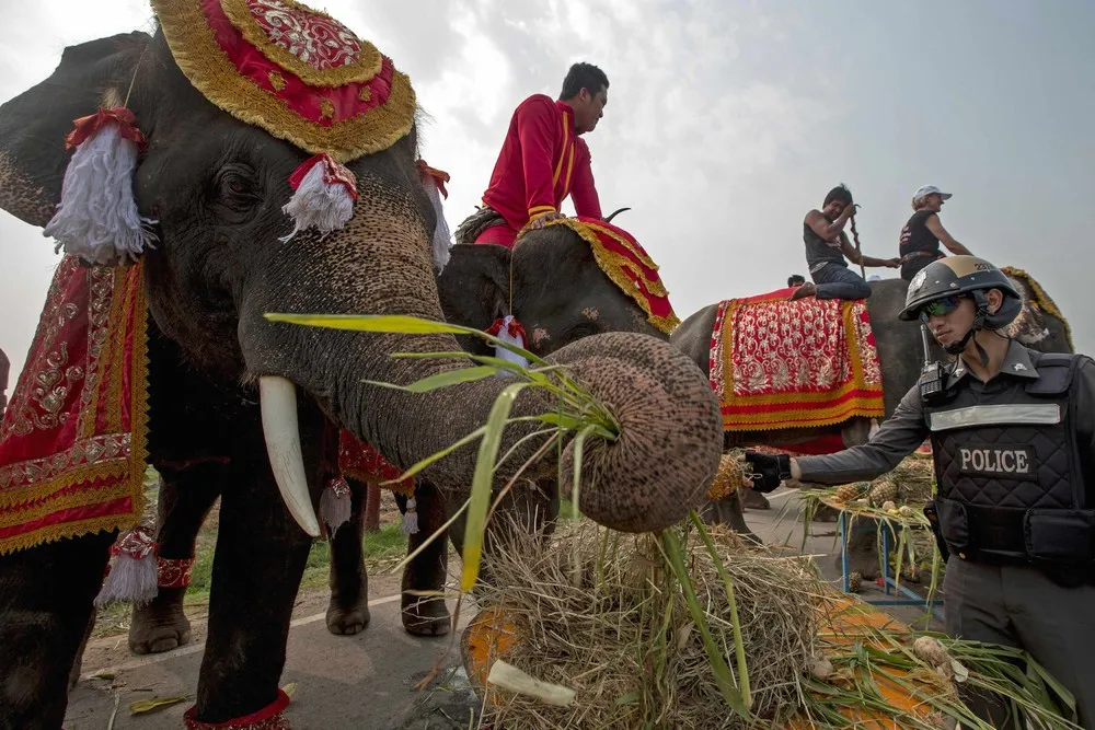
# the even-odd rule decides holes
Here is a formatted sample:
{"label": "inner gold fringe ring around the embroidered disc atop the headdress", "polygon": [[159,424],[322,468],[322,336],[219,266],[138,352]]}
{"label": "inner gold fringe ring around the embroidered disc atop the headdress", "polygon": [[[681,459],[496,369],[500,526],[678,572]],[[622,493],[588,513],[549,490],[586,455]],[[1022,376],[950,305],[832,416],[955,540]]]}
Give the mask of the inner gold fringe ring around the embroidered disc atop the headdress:
{"label": "inner gold fringe ring around the embroidered disc atop the headdress", "polygon": [[[326,18],[343,25],[342,22],[327,13],[313,10],[293,0],[278,1],[296,11]],[[269,36],[266,35],[266,31],[263,30],[263,26],[258,24],[258,21],[255,20],[254,14],[247,8],[246,0],[220,0],[220,8],[247,43],[286,71],[300,77],[301,81],[309,85],[333,88],[343,86],[347,83],[364,83],[380,73],[383,57],[371,43],[357,38],[357,34],[354,37],[357,38],[357,42],[361,46],[357,62],[321,71],[270,40]],[[343,27],[346,26],[343,25]],[[348,31],[349,28],[346,30]]]}

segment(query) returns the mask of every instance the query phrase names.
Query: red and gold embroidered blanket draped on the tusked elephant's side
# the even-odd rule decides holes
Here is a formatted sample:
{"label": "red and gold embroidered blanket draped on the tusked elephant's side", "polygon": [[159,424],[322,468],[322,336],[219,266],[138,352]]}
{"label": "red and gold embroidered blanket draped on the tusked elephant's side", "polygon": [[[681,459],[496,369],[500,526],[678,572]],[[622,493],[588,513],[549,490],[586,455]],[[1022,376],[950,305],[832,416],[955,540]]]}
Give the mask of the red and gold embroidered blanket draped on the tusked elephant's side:
{"label": "red and gold embroidered blanket draped on the tusked elephant's side", "polygon": [[66,256],[0,425],[0,555],[137,524],[148,434],[141,267]]}

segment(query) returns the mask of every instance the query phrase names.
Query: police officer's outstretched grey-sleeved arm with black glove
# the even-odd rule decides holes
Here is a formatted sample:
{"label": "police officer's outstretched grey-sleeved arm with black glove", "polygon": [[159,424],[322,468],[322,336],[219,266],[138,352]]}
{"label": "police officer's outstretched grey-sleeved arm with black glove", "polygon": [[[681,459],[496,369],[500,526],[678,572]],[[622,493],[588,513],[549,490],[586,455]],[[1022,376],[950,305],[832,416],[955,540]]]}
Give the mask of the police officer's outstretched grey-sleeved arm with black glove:
{"label": "police officer's outstretched grey-sleeved arm with black glove", "polygon": [[821,484],[861,482],[891,471],[924,442],[927,432],[918,384],[901,398],[894,416],[863,445],[825,456],[795,459],[747,451],[745,460],[752,467],[753,488],[759,491],[770,491],[791,477]]}

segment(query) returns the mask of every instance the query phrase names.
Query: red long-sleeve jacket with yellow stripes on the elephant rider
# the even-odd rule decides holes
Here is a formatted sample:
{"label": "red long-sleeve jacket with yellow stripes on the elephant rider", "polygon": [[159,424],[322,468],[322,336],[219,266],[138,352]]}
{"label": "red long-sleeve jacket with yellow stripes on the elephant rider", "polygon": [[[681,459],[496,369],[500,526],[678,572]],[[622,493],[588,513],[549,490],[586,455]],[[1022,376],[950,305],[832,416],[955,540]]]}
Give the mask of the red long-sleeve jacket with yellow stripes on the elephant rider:
{"label": "red long-sleeve jacket with yellow stripes on the elephant rider", "polygon": [[589,148],[574,134],[574,111],[533,94],[514,112],[483,202],[519,231],[535,216],[557,211],[567,195],[579,216],[601,218]]}

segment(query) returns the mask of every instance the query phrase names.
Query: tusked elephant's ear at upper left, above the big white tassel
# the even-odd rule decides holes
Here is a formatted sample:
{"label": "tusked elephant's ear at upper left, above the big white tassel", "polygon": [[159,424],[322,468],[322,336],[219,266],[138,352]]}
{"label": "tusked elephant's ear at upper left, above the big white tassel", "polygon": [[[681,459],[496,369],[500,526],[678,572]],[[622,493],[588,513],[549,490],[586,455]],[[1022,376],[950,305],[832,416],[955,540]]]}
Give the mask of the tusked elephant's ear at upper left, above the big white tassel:
{"label": "tusked elephant's ear at upper left, above the big white tassel", "polygon": [[146,33],[70,46],[48,79],[0,105],[0,208],[45,227],[61,197],[72,121],[101,104],[120,103]]}

